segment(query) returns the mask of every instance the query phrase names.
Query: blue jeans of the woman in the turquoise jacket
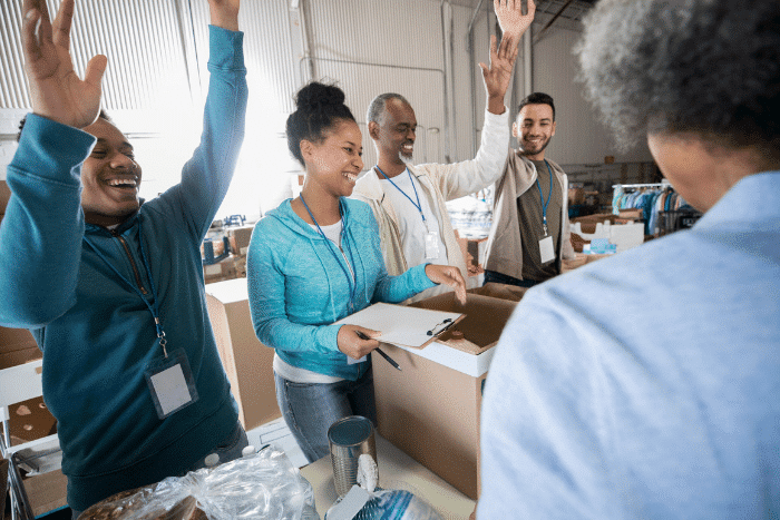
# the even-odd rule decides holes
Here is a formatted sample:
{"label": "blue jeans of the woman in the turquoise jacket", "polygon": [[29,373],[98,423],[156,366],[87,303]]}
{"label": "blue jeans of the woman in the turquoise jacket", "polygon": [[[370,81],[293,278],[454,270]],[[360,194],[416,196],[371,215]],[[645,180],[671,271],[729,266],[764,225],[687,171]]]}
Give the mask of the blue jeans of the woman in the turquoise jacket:
{"label": "blue jeans of the woman in the turquoise jacket", "polygon": [[274,379],[279,409],[309,462],[330,453],[328,429],[339,419],[362,415],[377,424],[371,367],[358,381],[293,383],[275,373]]}

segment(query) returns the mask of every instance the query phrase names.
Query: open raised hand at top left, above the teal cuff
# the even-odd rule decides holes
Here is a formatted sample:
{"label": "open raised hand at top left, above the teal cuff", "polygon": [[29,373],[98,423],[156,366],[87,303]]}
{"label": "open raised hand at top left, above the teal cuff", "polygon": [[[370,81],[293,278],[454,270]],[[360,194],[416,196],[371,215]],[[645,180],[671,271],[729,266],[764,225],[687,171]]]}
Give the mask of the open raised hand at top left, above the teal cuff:
{"label": "open raised hand at top left, above the teal cuff", "polygon": [[84,81],[76,75],[70,57],[74,0],[62,0],[53,26],[46,0],[25,0],[22,12],[32,111],[76,128],[90,125],[100,111],[100,80],[108,60],[97,55],[89,60]]}

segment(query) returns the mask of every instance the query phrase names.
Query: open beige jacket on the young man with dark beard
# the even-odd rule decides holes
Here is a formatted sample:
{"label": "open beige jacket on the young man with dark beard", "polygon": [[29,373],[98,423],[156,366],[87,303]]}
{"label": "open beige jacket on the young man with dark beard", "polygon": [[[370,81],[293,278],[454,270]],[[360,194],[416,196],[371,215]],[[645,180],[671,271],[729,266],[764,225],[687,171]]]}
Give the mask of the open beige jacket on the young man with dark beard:
{"label": "open beige jacket on the young man with dark beard", "polygon": [[[549,159],[547,163],[553,167],[553,173],[563,188],[560,242],[556,247],[560,255],[555,261],[558,272],[560,272],[562,259],[575,256],[568,223],[568,177],[556,163]],[[534,163],[521,157],[516,150],[510,150],[504,166],[504,176],[496,185],[493,226],[485,254],[486,269],[523,279],[523,237],[520,236],[520,223],[517,218],[517,197],[536,183],[536,177]]]}

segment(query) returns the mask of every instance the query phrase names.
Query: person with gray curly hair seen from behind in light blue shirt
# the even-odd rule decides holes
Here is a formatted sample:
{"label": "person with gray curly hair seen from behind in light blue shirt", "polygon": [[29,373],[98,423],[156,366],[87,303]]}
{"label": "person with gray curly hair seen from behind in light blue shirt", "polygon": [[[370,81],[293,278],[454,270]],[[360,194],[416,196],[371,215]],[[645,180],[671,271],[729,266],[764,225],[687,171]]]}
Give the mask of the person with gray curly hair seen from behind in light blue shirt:
{"label": "person with gray curly hair seen from behind in light blue shirt", "polygon": [[704,216],[526,293],[477,518],[777,518],[780,2],[604,0],[584,24],[587,97]]}

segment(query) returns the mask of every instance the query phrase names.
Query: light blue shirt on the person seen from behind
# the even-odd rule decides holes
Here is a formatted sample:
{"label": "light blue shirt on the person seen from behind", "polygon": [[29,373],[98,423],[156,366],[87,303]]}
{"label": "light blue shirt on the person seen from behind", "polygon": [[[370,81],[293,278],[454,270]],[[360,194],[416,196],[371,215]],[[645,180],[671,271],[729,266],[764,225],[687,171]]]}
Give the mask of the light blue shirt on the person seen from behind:
{"label": "light blue shirt on the person seen from behind", "polygon": [[780,173],[528,293],[497,346],[478,518],[780,516]]}

